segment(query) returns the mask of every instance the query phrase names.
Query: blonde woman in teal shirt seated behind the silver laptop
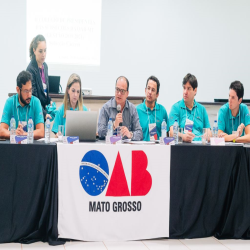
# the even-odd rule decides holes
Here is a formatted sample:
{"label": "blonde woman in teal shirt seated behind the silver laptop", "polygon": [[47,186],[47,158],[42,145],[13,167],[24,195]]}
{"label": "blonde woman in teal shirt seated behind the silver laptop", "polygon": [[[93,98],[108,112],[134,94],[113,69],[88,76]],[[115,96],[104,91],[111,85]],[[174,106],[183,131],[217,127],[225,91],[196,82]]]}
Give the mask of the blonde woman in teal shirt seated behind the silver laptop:
{"label": "blonde woman in teal shirt seated behind the silver laptop", "polygon": [[64,94],[63,104],[58,108],[56,113],[55,121],[52,127],[52,132],[56,135],[59,125],[64,125],[65,134],[66,110],[88,111],[86,106],[83,105],[82,83],[80,76],[77,74],[72,74],[69,77]]}

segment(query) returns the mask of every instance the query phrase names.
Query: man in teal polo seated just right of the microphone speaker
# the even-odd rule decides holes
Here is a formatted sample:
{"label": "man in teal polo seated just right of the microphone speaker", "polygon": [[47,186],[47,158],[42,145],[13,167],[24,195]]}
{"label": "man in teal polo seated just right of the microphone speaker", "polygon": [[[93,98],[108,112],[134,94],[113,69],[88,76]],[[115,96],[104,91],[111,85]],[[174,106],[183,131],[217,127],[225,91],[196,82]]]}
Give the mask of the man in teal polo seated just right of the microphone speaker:
{"label": "man in teal polo seated just right of the microphone speaker", "polygon": [[161,123],[165,119],[169,131],[166,109],[156,102],[159,96],[160,82],[155,76],[150,76],[146,83],[146,99],[136,109],[139,115],[144,141],[154,141],[161,137]]}

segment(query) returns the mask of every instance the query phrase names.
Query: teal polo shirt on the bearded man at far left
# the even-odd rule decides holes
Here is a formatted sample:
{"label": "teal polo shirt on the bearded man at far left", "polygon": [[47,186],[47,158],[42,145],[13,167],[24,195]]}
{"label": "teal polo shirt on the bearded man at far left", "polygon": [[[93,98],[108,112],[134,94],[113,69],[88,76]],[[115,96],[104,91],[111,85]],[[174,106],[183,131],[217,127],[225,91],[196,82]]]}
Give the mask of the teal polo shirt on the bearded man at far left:
{"label": "teal polo shirt on the bearded man at far left", "polygon": [[30,117],[33,120],[34,129],[36,129],[37,124],[44,123],[41,102],[35,96],[31,96],[30,103],[24,107],[19,103],[18,94],[9,97],[4,105],[1,123],[10,126],[10,119],[13,115],[16,120],[16,127],[19,121],[26,121],[28,124]]}

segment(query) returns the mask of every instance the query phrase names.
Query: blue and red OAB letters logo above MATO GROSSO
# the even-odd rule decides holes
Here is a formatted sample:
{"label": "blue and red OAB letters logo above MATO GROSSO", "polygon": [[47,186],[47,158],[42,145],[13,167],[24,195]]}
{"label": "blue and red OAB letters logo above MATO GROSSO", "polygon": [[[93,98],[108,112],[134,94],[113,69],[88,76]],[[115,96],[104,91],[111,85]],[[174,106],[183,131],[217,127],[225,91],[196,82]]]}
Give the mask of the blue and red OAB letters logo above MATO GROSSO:
{"label": "blue and red OAB letters logo above MATO GROSSO", "polygon": [[120,153],[117,153],[109,180],[109,166],[105,156],[99,151],[91,150],[82,158],[80,181],[84,190],[91,196],[100,195],[106,187],[106,196],[145,196],[152,186],[152,177],[147,166],[148,158],[145,152],[132,151],[130,194]]}

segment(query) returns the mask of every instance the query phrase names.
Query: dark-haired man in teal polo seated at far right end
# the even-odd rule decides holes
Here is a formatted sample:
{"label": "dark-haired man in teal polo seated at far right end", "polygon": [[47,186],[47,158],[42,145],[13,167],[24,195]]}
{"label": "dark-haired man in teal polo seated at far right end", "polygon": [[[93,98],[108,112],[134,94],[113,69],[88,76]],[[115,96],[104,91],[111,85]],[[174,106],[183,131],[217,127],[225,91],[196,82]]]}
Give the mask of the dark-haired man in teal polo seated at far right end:
{"label": "dark-haired man in teal polo seated at far right end", "polygon": [[242,103],[244,86],[240,81],[229,87],[228,103],[218,114],[218,135],[225,141],[250,142],[250,114],[247,105]]}

